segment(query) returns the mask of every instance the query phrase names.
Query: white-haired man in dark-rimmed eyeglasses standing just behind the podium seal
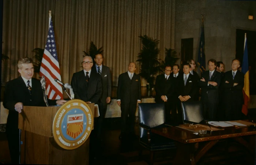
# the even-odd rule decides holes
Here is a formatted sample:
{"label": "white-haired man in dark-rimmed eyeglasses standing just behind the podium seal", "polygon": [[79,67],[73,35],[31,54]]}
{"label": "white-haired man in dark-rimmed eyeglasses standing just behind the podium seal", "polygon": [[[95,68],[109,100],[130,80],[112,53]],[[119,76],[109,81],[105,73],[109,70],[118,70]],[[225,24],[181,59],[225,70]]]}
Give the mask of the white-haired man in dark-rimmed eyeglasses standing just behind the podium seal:
{"label": "white-haired man in dark-rimmed eyeglasses standing just behind the podium seal", "polygon": [[75,72],[71,80],[75,98],[86,103],[98,104],[102,93],[101,75],[91,71],[93,67],[91,56],[84,56],[82,65],[83,70]]}

